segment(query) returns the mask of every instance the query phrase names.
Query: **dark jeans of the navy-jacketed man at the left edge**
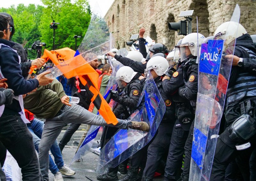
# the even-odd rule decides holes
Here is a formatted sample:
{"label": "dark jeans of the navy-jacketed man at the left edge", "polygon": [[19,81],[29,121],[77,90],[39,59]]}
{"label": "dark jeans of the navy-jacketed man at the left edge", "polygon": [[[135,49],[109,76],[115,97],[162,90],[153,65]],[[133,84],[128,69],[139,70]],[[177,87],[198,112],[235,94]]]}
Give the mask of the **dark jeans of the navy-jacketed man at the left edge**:
{"label": "dark jeans of the navy-jacketed man at the left edge", "polygon": [[32,135],[20,116],[7,114],[1,116],[0,141],[17,161],[23,181],[43,180]]}

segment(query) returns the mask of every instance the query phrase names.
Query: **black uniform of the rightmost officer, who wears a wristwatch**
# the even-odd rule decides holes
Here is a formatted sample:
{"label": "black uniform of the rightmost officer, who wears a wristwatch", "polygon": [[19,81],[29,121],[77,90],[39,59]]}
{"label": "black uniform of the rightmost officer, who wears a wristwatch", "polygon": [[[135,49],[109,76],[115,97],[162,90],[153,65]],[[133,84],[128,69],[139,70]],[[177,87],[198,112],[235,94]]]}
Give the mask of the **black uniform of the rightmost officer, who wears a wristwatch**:
{"label": "black uniform of the rightmost officer, who wears a wristwatch", "polygon": [[[255,148],[255,135],[248,140],[251,143],[251,148],[237,151],[235,147],[236,144],[241,145],[245,142],[242,140],[235,141],[230,139],[230,133],[228,131],[230,125],[243,114],[243,110],[241,109],[240,105],[250,100],[251,105],[254,108],[256,106],[256,76],[254,70],[256,67],[253,60],[256,58],[256,47],[253,44],[249,34],[246,33],[236,39],[234,55],[247,59],[244,59],[245,61],[243,67],[235,66],[231,69],[225,110],[225,118],[228,127],[222,134],[220,134],[220,137],[217,140],[210,176],[210,180],[212,181],[224,180],[225,170],[228,164],[235,158],[244,180],[250,179],[249,159],[252,149]],[[253,163],[251,165],[253,165]],[[251,171],[253,171],[253,169]],[[255,175],[255,173],[251,173],[251,176],[252,175]],[[252,178],[252,180],[253,179],[255,179],[255,177]]]}

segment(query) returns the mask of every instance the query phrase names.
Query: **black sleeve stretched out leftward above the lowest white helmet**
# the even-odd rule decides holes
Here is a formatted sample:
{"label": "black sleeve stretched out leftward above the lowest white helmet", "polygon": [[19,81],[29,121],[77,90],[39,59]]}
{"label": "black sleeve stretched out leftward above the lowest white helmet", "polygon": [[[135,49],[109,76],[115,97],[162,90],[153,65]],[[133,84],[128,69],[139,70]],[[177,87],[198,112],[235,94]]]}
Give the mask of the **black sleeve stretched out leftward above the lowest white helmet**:
{"label": "black sleeve stretched out leftward above the lowest white helmet", "polygon": [[147,62],[136,62],[129,58],[115,55],[115,59],[122,63],[124,66],[131,67],[135,72],[144,74],[145,69],[147,68]]}

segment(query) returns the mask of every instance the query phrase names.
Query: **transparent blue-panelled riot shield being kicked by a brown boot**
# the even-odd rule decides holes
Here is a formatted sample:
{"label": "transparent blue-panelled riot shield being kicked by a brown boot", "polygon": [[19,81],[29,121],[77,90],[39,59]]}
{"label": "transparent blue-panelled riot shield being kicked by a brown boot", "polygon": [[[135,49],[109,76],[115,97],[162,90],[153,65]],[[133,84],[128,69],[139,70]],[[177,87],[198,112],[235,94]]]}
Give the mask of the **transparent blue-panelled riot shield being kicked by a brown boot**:
{"label": "transparent blue-panelled riot shield being kicked by a brown boot", "polygon": [[98,173],[107,171],[109,167],[116,167],[146,146],[155,135],[164,116],[165,105],[150,73],[145,86],[145,105],[140,111],[134,112],[128,120],[147,122],[150,125],[149,132],[133,129],[118,131],[100,151]]}

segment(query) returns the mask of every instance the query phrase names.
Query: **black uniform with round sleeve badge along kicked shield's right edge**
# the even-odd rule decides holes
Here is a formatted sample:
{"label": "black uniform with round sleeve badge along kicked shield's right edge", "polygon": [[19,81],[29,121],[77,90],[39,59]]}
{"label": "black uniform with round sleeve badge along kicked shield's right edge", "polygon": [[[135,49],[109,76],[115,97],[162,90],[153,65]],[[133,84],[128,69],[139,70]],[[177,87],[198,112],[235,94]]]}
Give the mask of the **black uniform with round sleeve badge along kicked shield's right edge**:
{"label": "black uniform with round sleeve badge along kicked shield's right edge", "polygon": [[157,129],[157,133],[148,147],[147,163],[143,171],[142,180],[153,179],[155,171],[161,161],[161,157],[169,148],[175,123],[175,104],[172,100],[172,96],[165,93],[160,76],[156,77],[154,80],[158,91],[164,100],[166,111]]}

